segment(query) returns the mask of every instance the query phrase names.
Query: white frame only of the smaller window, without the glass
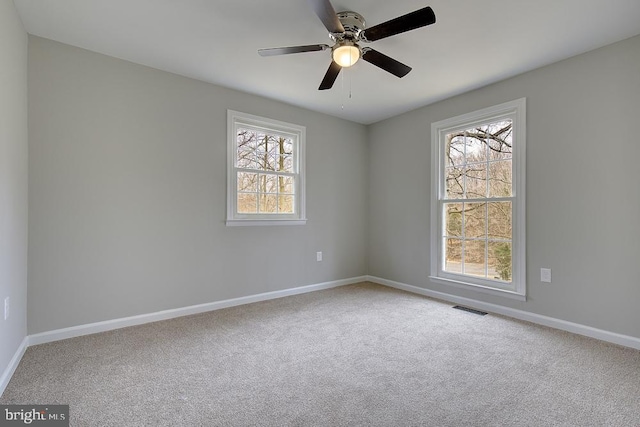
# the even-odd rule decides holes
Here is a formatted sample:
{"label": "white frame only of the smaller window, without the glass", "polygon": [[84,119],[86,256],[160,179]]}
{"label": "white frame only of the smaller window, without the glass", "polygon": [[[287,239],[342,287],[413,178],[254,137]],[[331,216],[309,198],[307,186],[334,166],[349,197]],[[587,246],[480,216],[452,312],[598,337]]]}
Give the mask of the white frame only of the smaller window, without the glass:
{"label": "white frame only of the smaller window, without the glass", "polygon": [[[286,135],[293,140],[295,202],[292,214],[238,213],[237,131],[248,127],[263,132]],[[227,221],[228,226],[303,225],[305,216],[305,143],[304,126],[273,120],[253,114],[227,110]]]}

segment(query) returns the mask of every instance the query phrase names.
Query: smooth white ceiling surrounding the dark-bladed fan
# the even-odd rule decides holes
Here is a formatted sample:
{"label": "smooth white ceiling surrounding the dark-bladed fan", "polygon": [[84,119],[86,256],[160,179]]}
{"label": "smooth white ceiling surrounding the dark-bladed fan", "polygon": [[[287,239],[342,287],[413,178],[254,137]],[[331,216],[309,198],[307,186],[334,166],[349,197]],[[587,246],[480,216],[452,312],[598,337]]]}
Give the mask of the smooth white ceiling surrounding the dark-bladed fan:
{"label": "smooth white ceiling surrounding the dark-bladed fan", "polygon": [[359,61],[318,91],[330,51],[257,54],[331,44],[306,0],[14,2],[31,34],[364,124],[640,34],[640,0],[333,0],[367,26],[424,6],[437,22],[369,45],[406,77]]}

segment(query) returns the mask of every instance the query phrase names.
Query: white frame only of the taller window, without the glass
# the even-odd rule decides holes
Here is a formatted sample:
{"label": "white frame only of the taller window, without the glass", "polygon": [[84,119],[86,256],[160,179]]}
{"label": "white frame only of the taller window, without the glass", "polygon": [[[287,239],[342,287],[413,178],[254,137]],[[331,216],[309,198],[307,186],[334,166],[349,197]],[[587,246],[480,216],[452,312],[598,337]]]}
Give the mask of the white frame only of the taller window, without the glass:
{"label": "white frame only of the taller window, without the glass", "polygon": [[[476,278],[444,271],[444,197],[445,197],[445,136],[501,119],[513,123],[512,147],[512,275],[511,283]],[[431,124],[431,281],[477,292],[526,300],[526,242],[525,242],[525,154],[526,154],[526,98]]]}

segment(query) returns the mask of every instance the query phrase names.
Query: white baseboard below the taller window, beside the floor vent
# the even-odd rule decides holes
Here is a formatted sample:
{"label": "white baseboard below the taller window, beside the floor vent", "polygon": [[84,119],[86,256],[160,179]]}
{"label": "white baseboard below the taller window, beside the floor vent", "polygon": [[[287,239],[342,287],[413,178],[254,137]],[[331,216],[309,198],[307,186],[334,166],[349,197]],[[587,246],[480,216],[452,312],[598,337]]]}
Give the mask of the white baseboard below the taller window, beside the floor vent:
{"label": "white baseboard below the taller window, beside the floor vent", "polygon": [[591,326],[581,325],[579,323],[567,322],[566,320],[556,319],[554,317],[543,316],[541,314],[535,314],[515,308],[504,307],[502,305],[476,301],[470,298],[450,295],[444,292],[437,292],[430,289],[419,288],[417,286],[394,282],[393,280],[382,279],[380,277],[367,276],[367,280],[379,285],[389,286],[391,288],[400,289],[414,294],[420,294],[427,297],[452,302],[455,304],[461,304],[470,308],[475,308],[476,310],[501,314],[503,316],[513,317],[515,319],[525,320],[527,322],[536,323],[538,325],[548,326],[551,328],[560,329],[562,331],[572,332],[574,334],[584,335],[601,341],[607,341],[613,344],[640,350],[640,338],[632,337],[629,335],[609,332],[602,329],[593,328]]}

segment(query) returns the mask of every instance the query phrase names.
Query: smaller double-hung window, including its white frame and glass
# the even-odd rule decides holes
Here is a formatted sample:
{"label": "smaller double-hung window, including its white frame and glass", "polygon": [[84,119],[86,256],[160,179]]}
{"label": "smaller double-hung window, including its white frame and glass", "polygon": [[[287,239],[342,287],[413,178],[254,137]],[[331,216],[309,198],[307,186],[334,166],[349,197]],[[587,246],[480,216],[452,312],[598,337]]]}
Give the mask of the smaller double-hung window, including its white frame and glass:
{"label": "smaller double-hung window, including its white frame and glass", "polygon": [[228,110],[227,225],[305,223],[305,128]]}

